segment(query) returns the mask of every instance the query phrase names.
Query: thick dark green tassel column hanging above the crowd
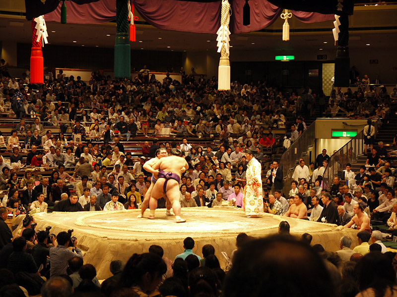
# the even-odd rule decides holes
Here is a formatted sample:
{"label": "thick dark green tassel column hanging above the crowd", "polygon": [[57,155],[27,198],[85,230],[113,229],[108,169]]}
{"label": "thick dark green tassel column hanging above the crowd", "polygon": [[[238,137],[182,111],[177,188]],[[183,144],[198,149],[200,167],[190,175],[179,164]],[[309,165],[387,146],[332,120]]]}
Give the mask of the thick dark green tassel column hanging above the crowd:
{"label": "thick dark green tassel column hanging above the crowd", "polygon": [[116,0],[115,77],[131,77],[131,47],[128,21],[128,1]]}

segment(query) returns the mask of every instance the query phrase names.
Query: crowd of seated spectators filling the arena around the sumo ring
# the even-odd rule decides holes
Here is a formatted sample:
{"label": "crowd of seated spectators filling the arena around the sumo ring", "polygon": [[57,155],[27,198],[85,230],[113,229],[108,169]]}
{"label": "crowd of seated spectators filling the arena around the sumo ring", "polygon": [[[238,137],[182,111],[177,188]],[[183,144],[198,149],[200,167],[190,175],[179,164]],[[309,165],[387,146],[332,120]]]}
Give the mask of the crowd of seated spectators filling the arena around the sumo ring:
{"label": "crowd of seated spectators filling the arena around the sumo ring", "polygon": [[[143,71],[142,76],[131,80],[111,80],[93,72],[88,83],[79,77],[76,80],[72,76],[66,78],[60,73],[56,79],[46,80],[41,86],[30,85],[25,75],[20,79],[0,76],[0,111],[19,119],[9,136],[0,132],[0,149],[9,154],[9,160],[0,156],[0,189],[7,193],[1,201],[3,207],[0,207],[0,258],[3,259],[2,268],[10,270],[1,273],[7,277],[1,279],[5,289],[0,289],[0,296],[1,290],[15,292],[12,296],[18,296],[15,284],[21,283],[26,286],[34,283],[25,288],[31,292],[42,287],[43,296],[54,296],[54,292],[62,296],[61,291],[70,296],[73,288],[81,296],[87,292],[101,292],[104,296],[147,296],[157,289],[163,296],[199,296],[204,293],[219,296],[223,291],[225,296],[242,296],[245,294],[237,295],[237,292],[243,288],[247,290],[244,292],[250,292],[250,287],[244,285],[233,290],[233,280],[240,279],[240,284],[242,276],[250,282],[257,280],[250,279],[249,273],[243,273],[244,267],[248,263],[262,263],[254,262],[247,254],[247,248],[254,250],[271,245],[275,248],[278,245],[296,247],[299,251],[295,254],[297,258],[299,253],[311,256],[311,261],[304,263],[308,273],[321,271],[319,276],[327,279],[332,276],[330,296],[338,296],[335,290],[344,292],[340,283],[333,283],[334,277],[340,277],[335,274],[335,269],[346,275],[350,273],[352,277],[354,269],[359,273],[377,262],[381,263],[379,266],[384,265],[385,275],[390,273],[393,256],[378,255],[375,252],[378,247],[368,244],[370,225],[388,224],[390,232],[397,230],[396,170],[391,168],[383,144],[370,147],[368,166],[356,174],[350,170],[350,164],[346,165],[344,178],[335,177],[334,184],[328,189],[322,181],[330,159],[327,151],[323,151],[316,163],[309,167],[303,159],[299,161],[289,193],[281,190],[282,164],[272,162],[270,170],[263,175],[265,212],[360,230],[360,247],[345,263],[340,260],[342,256],[338,259],[335,254],[324,252],[324,248],[322,251],[319,247],[312,249],[291,238],[275,237],[263,241],[246,238],[251,246],[238,241],[241,251],[236,251],[236,263],[239,264],[231,270],[230,279],[224,282],[225,275],[214,256],[213,247],[203,247],[201,259],[193,254],[193,239],[188,239],[184,242],[184,253],[175,261],[165,258],[161,247],[152,247],[149,253],[134,254],[127,263],[112,262],[110,270],[114,276],[100,286],[95,267],[84,264],[77,240],[70,233],[61,232],[56,237],[44,231],[36,234],[31,227],[34,219],[27,215],[21,236],[11,241],[12,235],[4,223],[8,214],[139,208],[150,186],[150,174],[143,166],[146,159],[160,154],[166,156],[172,147],[181,149],[189,163],[180,182],[182,207],[225,204],[242,207],[247,170],[242,152],[250,149],[258,160],[264,162],[265,154],[271,154],[280,146],[273,129],[287,130],[286,136],[293,143],[306,130],[301,116],[384,119],[391,113],[390,103],[397,99],[397,89],[391,95],[384,88],[378,92],[372,86],[368,90],[362,86],[354,93],[335,89],[328,98],[322,92],[314,94],[309,88],[299,93],[296,90],[285,92],[269,86],[266,81],[250,85],[233,82],[230,91],[218,92],[214,77],[198,78],[194,70],[185,75],[181,69],[181,82],[173,81],[169,75],[158,82],[146,72],[149,73]],[[60,133],[53,133],[58,131],[58,126]],[[170,133],[182,141],[159,143],[152,138]],[[141,134],[148,138],[137,160],[126,144]],[[210,138],[216,142],[205,147],[195,141],[189,143],[188,139],[192,138]],[[26,170],[22,177],[23,167]],[[159,201],[158,207],[165,207],[164,199]],[[281,230],[283,228],[285,226]],[[374,233],[374,244],[376,241],[381,246],[382,236],[379,238],[379,234]],[[349,239],[341,239],[341,250],[345,253],[350,249],[351,239],[350,245],[348,243]],[[74,251],[70,251],[69,246]],[[374,253],[358,261],[357,253],[365,255],[370,247]],[[384,252],[382,246],[381,250]],[[265,255],[265,262],[268,255],[274,256],[270,250],[260,249],[258,254],[261,253]],[[231,257],[234,262],[234,256]],[[312,262],[318,257],[329,262],[324,265]],[[288,262],[281,256],[278,260],[280,265]],[[357,267],[355,262],[358,262]],[[280,269],[284,267],[282,265]],[[290,276],[286,271],[283,273],[285,278]],[[44,283],[40,275],[46,276],[48,281]],[[165,279],[164,275],[168,277]],[[23,277],[25,279],[21,281]],[[365,282],[364,275],[361,277],[351,279],[350,295],[343,296],[355,296],[352,294],[360,291],[368,294],[368,290],[373,290],[376,296],[383,296],[379,292],[385,293],[385,290],[394,292],[395,273],[394,277],[385,276],[382,283],[385,290],[378,283]],[[379,281],[379,277],[373,279]],[[266,282],[270,284],[269,280],[261,279],[263,289],[267,288]],[[329,288],[324,286],[319,286],[323,293]],[[262,287],[258,288],[262,290]],[[313,292],[320,291],[313,289]],[[290,293],[288,295],[293,296]],[[256,295],[253,293],[252,296]]]}

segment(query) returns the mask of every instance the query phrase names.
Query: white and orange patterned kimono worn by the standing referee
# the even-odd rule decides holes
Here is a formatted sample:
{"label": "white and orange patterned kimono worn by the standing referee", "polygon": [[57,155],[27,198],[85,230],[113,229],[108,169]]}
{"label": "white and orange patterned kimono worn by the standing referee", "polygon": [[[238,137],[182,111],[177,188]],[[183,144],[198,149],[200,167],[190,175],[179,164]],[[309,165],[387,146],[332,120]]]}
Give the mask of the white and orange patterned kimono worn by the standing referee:
{"label": "white and orange patterned kimono worn by the standing referee", "polygon": [[262,192],[262,166],[258,160],[253,157],[248,163],[246,172],[247,185],[245,186],[245,195],[243,207],[247,215],[259,214],[263,211],[263,192]]}

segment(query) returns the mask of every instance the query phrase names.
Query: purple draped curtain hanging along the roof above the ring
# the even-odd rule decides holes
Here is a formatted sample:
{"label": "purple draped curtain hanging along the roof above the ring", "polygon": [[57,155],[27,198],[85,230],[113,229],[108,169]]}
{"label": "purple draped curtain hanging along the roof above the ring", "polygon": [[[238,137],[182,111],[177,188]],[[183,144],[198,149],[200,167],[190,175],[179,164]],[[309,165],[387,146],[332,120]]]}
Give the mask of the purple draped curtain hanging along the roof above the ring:
{"label": "purple draped curtain hanging along the roof above the ring", "polygon": [[[233,34],[258,31],[271,25],[283,11],[265,0],[250,0],[251,24],[243,26],[245,0],[231,2],[230,32]],[[45,15],[46,21],[61,20],[61,3]],[[116,18],[116,0],[78,5],[67,1],[67,22],[77,24],[106,23]],[[156,28],[174,31],[215,34],[220,26],[221,1],[193,2],[180,0],[134,0],[134,8],[146,22]],[[294,16],[304,23],[331,20],[333,15],[295,11]]]}

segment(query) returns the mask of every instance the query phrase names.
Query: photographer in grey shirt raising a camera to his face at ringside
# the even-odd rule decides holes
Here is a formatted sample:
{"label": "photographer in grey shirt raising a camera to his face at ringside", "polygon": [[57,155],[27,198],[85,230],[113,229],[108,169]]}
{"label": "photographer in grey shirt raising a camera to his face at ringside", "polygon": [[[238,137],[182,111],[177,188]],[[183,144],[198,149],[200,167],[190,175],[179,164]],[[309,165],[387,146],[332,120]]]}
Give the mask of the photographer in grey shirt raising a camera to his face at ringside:
{"label": "photographer in grey shirt raising a camera to his face at ringside", "polygon": [[[75,256],[83,258],[81,249],[77,248],[77,240],[71,240],[70,233],[65,231],[58,233],[57,243],[57,247],[50,248],[51,277],[67,274],[66,269],[70,258]],[[67,247],[74,247],[75,252],[71,251]]]}

